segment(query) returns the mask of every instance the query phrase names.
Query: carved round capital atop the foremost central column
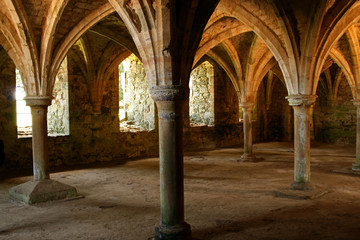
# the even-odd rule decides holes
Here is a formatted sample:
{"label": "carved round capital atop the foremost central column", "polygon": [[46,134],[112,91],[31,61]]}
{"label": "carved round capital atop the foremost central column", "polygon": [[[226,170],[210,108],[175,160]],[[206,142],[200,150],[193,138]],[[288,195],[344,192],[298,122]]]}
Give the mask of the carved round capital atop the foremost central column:
{"label": "carved round capital atop the foremost central column", "polygon": [[189,88],[180,85],[155,86],[150,88],[152,99],[157,101],[176,101],[189,98]]}

